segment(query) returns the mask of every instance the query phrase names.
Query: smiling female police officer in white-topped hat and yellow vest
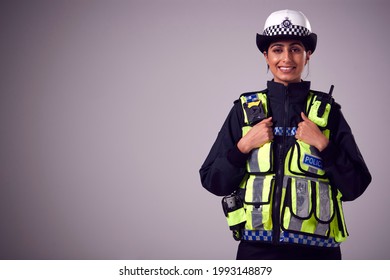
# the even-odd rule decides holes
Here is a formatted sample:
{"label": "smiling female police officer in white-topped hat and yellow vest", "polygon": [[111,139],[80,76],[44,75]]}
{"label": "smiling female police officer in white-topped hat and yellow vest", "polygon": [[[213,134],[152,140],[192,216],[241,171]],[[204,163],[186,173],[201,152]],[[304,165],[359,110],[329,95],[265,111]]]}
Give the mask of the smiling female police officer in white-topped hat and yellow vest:
{"label": "smiling female police officer in white-topped hat and yellow vest", "polygon": [[333,86],[301,80],[316,43],[303,13],[267,18],[257,46],[273,80],[234,103],[200,169],[202,185],[225,196],[237,259],[341,259],[342,201],[371,182]]}

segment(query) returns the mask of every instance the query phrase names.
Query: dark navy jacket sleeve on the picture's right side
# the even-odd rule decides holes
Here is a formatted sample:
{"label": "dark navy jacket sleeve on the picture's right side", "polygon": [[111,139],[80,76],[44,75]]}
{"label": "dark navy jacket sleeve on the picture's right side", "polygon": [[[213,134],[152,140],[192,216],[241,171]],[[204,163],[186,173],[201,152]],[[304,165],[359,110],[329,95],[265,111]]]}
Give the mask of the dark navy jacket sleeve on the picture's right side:
{"label": "dark navy jacket sleeve on the picture's right side", "polygon": [[[336,104],[335,104],[336,105]],[[371,183],[371,174],[359,151],[351,128],[340,106],[332,112],[329,145],[321,152],[324,169],[341,194],[343,201],[358,198]]]}

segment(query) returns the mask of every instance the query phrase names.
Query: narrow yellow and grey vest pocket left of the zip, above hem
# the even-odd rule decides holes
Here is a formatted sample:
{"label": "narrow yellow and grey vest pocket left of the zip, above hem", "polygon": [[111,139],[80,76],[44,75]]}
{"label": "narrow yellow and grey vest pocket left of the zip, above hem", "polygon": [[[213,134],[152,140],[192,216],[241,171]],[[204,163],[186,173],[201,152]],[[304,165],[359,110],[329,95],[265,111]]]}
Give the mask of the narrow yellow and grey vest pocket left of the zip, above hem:
{"label": "narrow yellow and grey vest pocket left of the zip, above hem", "polygon": [[249,176],[244,199],[246,229],[271,229],[271,193],[273,185],[273,176]]}

